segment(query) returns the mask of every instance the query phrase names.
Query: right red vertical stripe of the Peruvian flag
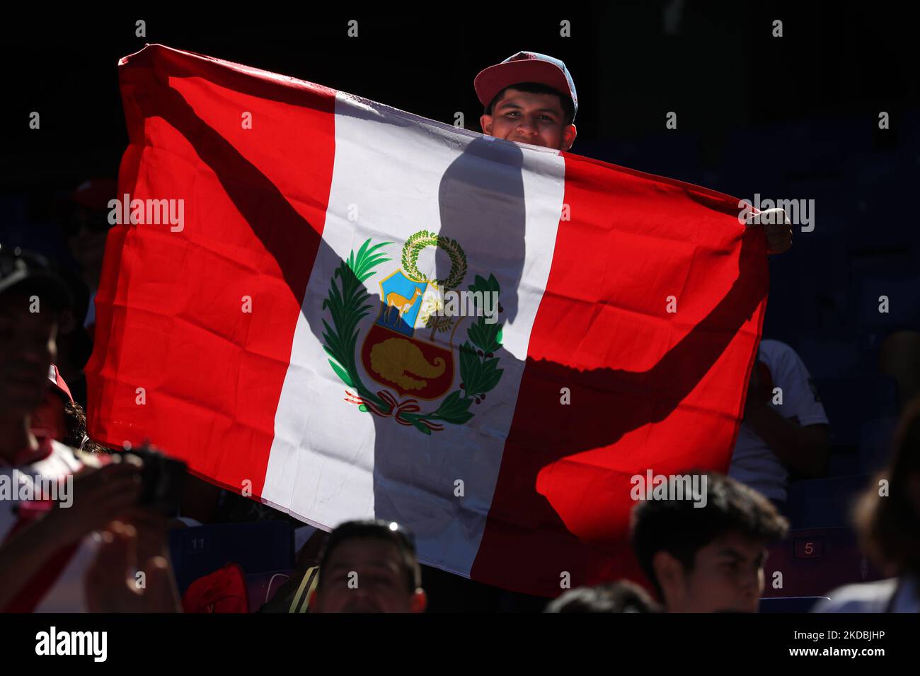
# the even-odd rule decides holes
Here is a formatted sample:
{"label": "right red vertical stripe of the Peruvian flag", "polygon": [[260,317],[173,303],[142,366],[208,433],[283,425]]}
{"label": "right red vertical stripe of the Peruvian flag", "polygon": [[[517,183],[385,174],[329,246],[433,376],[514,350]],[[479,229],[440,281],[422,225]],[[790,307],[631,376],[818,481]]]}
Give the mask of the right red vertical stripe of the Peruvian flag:
{"label": "right red vertical stripe of the Peruvian flag", "polygon": [[727,469],[767,287],[763,232],[737,200],[565,156],[570,220],[471,571],[548,596],[642,579],[632,476]]}

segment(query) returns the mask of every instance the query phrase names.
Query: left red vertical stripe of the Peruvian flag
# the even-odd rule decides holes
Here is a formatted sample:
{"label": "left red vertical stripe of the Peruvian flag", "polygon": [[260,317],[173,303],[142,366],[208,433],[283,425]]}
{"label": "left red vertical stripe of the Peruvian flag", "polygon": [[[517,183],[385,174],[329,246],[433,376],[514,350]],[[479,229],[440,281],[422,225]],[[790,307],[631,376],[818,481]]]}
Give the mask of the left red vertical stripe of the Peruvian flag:
{"label": "left red vertical stripe of the Peruvian flag", "polygon": [[109,234],[89,433],[148,437],[259,496],[326,218],[335,92],[160,45],[123,59],[120,78],[119,197],[182,200],[184,224]]}

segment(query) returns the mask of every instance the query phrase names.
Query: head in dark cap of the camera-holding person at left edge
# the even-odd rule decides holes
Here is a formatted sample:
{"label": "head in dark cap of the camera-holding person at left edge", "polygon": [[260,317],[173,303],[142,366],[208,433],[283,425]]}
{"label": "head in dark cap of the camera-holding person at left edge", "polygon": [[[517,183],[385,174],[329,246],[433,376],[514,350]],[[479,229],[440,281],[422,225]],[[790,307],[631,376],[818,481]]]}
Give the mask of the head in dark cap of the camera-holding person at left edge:
{"label": "head in dark cap of the camera-holding person at left edge", "polygon": [[48,395],[60,317],[69,304],[47,262],[0,245],[0,410],[26,420]]}

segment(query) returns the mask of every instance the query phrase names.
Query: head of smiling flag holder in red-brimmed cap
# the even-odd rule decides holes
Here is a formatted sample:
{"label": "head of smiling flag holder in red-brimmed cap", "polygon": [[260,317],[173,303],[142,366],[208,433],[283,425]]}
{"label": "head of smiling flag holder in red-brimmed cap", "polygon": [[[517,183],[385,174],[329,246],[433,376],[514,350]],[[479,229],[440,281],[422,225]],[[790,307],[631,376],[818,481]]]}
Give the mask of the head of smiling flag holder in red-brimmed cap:
{"label": "head of smiling flag holder in red-brimmed cap", "polygon": [[518,52],[476,76],[484,112],[482,132],[495,138],[569,150],[578,95],[566,64],[536,52]]}

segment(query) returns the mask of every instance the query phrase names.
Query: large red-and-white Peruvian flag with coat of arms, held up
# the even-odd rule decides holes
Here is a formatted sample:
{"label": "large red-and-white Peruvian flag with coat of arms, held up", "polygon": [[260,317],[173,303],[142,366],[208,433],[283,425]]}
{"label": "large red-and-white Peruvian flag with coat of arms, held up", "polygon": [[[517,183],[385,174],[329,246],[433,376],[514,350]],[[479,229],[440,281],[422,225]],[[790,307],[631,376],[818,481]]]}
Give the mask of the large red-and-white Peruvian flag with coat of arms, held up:
{"label": "large red-and-white Peruvian flag with coat of arms, held up", "polygon": [[94,438],[550,596],[639,579],[634,476],[727,469],[767,290],[738,200],[162,45],[120,77]]}

